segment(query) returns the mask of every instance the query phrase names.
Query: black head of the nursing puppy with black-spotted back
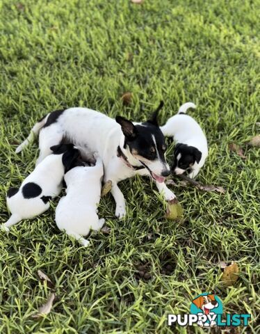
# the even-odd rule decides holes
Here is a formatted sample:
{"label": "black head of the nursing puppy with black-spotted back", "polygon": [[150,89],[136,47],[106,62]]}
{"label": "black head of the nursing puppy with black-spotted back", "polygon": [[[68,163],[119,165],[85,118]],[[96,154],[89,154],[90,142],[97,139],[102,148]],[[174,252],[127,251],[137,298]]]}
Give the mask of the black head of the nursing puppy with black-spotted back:
{"label": "black head of the nursing puppy with black-spotted back", "polygon": [[74,167],[75,162],[80,157],[79,149],[73,144],[59,144],[50,148],[54,154],[63,154],[63,166],[65,173]]}

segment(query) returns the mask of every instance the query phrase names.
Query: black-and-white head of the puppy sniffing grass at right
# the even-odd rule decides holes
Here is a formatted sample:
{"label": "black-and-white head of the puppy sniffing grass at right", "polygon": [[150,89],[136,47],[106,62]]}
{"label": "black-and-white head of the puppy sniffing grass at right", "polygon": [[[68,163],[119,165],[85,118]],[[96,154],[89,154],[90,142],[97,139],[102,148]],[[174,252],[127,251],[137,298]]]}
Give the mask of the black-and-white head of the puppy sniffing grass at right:
{"label": "black-and-white head of the puppy sniffing grass at right", "polygon": [[174,161],[172,172],[183,174],[186,170],[192,170],[195,163],[199,164],[202,159],[202,152],[193,146],[177,144],[174,150]]}

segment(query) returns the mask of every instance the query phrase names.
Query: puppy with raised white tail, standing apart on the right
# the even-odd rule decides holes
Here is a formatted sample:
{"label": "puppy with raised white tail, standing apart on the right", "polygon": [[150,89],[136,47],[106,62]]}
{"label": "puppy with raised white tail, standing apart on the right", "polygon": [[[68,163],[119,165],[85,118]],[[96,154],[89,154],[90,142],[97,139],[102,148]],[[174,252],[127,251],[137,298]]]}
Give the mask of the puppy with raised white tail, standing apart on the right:
{"label": "puppy with raised white tail, standing apart on the right", "polygon": [[177,144],[172,164],[173,173],[179,175],[187,170],[188,176],[193,178],[204,166],[208,156],[208,145],[200,125],[194,118],[186,115],[189,108],[196,106],[192,102],[183,104],[177,115],[172,116],[161,127],[161,131],[166,137],[173,137]]}

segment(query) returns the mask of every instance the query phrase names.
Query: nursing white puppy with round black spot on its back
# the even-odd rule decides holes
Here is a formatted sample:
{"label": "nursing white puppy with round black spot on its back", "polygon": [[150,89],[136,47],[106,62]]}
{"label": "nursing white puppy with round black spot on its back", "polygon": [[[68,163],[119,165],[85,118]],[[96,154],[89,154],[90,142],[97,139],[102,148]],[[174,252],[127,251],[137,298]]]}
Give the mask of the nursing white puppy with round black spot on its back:
{"label": "nursing white puppy with round black spot on its back", "polygon": [[73,144],[56,145],[50,150],[53,154],[35,167],[19,189],[8,190],[6,202],[12,216],[2,225],[3,230],[9,230],[22,219],[42,214],[49,209],[49,200],[60,193],[64,173],[79,157],[79,150]]}

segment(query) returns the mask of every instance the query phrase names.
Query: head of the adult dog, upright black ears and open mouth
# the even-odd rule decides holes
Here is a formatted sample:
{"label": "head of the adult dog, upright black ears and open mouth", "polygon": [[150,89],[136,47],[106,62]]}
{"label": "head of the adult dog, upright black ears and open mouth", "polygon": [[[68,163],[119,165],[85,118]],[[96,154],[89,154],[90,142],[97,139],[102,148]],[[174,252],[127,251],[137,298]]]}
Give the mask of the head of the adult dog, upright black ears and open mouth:
{"label": "head of the adult dog, upright black ears and open mouth", "polygon": [[149,170],[157,182],[163,182],[164,178],[170,175],[170,168],[165,161],[165,138],[157,121],[162,107],[163,102],[154,111],[152,118],[138,125],[133,125],[130,120],[121,116],[115,118],[124,134],[124,148]]}

